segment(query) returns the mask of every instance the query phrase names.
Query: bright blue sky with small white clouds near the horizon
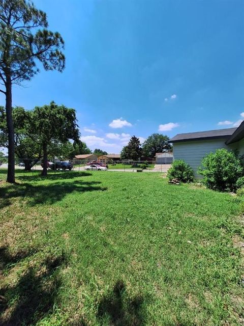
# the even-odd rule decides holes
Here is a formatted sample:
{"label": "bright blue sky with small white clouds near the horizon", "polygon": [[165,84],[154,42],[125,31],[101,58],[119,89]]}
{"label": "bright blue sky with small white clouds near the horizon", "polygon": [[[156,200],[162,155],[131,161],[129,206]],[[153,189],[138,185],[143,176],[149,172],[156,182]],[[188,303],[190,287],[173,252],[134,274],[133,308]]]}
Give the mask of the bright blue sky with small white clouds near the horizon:
{"label": "bright blue sky with small white clouds near the horizon", "polygon": [[14,87],[13,105],[75,108],[90,148],[116,153],[133,134],[172,137],[244,119],[242,0],[34,3],[65,40],[66,69],[41,69]]}

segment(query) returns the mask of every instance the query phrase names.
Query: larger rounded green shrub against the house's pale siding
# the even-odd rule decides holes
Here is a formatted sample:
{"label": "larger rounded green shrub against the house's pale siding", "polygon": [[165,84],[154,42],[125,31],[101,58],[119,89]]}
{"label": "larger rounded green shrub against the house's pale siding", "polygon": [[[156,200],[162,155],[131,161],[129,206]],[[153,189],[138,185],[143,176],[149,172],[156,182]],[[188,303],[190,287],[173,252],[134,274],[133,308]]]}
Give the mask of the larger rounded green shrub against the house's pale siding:
{"label": "larger rounded green shrub against the house's pale siding", "polygon": [[206,155],[198,173],[203,175],[203,183],[210,189],[234,191],[236,181],[242,174],[240,161],[233,152],[217,149],[215,153]]}

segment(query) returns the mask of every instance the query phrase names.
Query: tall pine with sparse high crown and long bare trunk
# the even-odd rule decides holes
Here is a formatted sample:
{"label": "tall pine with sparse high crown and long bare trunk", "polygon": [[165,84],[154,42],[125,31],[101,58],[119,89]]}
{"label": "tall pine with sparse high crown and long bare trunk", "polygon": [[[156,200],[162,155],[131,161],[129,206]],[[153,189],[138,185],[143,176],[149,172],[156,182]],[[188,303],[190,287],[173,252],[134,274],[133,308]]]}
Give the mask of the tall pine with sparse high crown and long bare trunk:
{"label": "tall pine with sparse high crown and long bare trunk", "polygon": [[15,182],[15,140],[12,117],[12,85],[30,80],[39,69],[63,71],[64,41],[59,33],[47,30],[46,14],[25,0],[0,1],[0,92],[6,98],[8,130],[8,182]]}

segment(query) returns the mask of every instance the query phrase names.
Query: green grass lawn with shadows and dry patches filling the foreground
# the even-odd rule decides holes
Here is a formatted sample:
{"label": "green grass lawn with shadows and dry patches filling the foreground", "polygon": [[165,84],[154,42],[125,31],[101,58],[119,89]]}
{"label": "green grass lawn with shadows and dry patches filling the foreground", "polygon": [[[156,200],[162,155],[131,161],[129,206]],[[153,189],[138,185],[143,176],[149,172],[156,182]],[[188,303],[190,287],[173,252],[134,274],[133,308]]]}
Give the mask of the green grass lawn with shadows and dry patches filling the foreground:
{"label": "green grass lawn with shadows and dry patches filling the foreground", "polygon": [[160,173],[34,173],[0,184],[1,325],[243,324],[239,198]]}

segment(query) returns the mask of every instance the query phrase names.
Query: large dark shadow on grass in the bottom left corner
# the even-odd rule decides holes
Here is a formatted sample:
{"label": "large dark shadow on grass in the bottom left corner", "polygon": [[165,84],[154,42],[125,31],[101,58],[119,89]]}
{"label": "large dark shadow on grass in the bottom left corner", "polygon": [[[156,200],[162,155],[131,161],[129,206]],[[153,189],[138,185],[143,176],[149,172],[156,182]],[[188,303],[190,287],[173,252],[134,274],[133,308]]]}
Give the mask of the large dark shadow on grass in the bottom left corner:
{"label": "large dark shadow on grass in the bottom left corner", "polygon": [[[16,262],[16,257],[7,253],[2,257],[2,265]],[[28,255],[27,255],[28,256]],[[18,261],[27,257],[23,255]],[[5,261],[5,259],[7,260]],[[29,267],[19,278],[17,284],[8,285],[0,292],[1,326],[34,325],[48,316],[58,303],[58,289],[62,282],[60,269],[68,264],[67,256],[62,253],[49,256],[38,268]]]}

